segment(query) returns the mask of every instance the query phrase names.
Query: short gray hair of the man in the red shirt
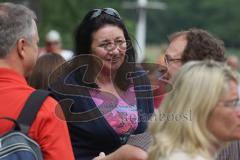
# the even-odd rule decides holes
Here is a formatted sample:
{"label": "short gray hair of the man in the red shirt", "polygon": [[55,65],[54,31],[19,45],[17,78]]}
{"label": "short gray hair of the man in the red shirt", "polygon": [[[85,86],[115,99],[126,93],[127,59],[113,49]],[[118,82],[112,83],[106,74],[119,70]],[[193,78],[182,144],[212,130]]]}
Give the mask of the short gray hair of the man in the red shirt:
{"label": "short gray hair of the man in the red shirt", "polygon": [[35,13],[20,4],[0,3],[0,58],[4,58],[20,38],[32,41]]}

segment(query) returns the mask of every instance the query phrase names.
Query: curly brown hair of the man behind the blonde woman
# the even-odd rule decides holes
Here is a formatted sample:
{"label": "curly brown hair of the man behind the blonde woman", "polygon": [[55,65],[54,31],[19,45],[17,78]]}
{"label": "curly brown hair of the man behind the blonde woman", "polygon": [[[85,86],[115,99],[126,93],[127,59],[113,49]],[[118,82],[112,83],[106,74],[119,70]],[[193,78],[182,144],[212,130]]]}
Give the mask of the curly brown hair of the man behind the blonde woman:
{"label": "curly brown hair of the man behind the blonde woman", "polygon": [[192,28],[172,34],[170,41],[179,36],[186,36],[187,39],[187,45],[182,54],[182,63],[204,59],[213,59],[218,62],[226,60],[224,42],[209,32]]}

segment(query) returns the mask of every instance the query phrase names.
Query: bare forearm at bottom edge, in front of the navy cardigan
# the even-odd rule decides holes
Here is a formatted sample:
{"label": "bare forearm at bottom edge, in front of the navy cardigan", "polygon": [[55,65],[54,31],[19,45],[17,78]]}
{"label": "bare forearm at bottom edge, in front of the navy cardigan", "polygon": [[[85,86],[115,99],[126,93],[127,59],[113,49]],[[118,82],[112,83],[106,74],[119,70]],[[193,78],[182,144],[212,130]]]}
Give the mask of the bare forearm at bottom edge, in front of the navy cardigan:
{"label": "bare forearm at bottom edge, in front of the navy cardigan", "polygon": [[106,155],[99,155],[98,157],[94,158],[93,160],[146,160],[147,159],[147,152],[144,150],[125,144],[117,149],[115,152]]}

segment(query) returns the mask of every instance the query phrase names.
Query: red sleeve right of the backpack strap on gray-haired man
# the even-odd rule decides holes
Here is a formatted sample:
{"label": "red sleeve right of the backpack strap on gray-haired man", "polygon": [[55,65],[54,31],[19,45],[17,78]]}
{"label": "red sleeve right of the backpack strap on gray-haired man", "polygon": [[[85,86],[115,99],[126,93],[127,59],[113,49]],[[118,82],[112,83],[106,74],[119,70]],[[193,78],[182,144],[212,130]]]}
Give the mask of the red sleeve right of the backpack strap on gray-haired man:
{"label": "red sleeve right of the backpack strap on gray-haired man", "polygon": [[56,106],[55,100],[47,98],[29,135],[40,145],[44,160],[74,160],[67,124],[56,116]]}

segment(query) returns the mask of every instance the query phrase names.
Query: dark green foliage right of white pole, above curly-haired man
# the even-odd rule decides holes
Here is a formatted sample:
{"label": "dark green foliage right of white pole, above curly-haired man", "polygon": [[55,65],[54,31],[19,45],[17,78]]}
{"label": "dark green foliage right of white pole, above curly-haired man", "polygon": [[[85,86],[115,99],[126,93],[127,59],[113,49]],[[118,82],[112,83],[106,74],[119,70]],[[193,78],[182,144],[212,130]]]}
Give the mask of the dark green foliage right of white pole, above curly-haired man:
{"label": "dark green foliage right of white pole, above curly-haired man", "polygon": [[[227,47],[240,47],[239,0],[162,0],[165,11],[149,13],[148,42],[166,41],[167,35],[200,27],[224,40]],[[155,25],[152,25],[155,24]]]}

